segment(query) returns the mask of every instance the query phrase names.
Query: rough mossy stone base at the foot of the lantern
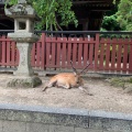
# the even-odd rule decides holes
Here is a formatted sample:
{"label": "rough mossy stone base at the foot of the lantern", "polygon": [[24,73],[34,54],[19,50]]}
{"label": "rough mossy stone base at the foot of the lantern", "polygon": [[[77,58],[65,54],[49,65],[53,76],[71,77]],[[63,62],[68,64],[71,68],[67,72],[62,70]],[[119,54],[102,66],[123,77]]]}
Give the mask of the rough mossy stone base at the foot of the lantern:
{"label": "rough mossy stone base at the foot of the lantern", "polygon": [[42,84],[42,80],[38,77],[20,77],[15,76],[13,79],[11,79],[7,87],[14,87],[14,88],[34,88],[36,86],[40,86]]}

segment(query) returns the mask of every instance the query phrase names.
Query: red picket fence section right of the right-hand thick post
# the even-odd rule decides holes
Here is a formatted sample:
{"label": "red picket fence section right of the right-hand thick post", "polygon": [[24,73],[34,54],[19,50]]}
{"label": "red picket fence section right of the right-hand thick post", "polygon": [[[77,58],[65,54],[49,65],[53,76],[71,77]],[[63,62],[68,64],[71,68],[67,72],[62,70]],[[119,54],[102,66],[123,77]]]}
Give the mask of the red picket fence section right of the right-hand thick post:
{"label": "red picket fence section right of the right-hand thick post", "polygon": [[132,38],[101,38],[99,69],[132,72]]}

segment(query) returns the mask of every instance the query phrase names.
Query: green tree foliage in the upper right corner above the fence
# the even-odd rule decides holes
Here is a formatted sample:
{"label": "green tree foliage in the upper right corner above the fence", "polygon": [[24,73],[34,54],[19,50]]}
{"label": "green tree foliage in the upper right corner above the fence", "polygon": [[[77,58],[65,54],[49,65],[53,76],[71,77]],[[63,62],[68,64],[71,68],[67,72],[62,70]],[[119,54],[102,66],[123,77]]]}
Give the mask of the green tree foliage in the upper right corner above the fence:
{"label": "green tree foliage in the upper right corner above the fence", "polygon": [[132,31],[132,0],[113,0],[113,3],[116,8],[107,12],[101,31]]}

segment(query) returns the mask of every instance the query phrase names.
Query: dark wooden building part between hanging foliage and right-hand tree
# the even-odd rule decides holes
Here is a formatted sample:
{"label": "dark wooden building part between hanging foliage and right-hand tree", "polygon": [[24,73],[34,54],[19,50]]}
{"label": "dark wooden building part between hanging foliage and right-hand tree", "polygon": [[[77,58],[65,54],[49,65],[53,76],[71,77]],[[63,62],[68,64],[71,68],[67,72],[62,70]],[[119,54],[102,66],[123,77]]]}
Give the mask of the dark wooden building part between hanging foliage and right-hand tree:
{"label": "dark wooden building part between hanging foliage and right-hand tree", "polygon": [[114,8],[113,0],[74,0],[73,10],[82,31],[98,31],[106,11]]}

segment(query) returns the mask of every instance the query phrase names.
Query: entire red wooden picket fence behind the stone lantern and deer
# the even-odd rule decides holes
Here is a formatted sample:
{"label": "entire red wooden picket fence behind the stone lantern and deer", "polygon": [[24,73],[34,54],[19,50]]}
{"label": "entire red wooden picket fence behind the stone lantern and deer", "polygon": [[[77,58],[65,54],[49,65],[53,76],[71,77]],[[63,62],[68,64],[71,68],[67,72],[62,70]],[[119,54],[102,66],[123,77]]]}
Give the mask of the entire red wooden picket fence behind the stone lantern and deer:
{"label": "entire red wooden picket fence behind the stone lantern and deer", "polygon": [[[70,61],[76,68],[90,63],[92,72],[132,73],[132,38],[51,37],[42,33],[33,44],[31,65],[36,69],[68,69]],[[19,52],[7,36],[0,36],[0,67],[16,67]]]}

